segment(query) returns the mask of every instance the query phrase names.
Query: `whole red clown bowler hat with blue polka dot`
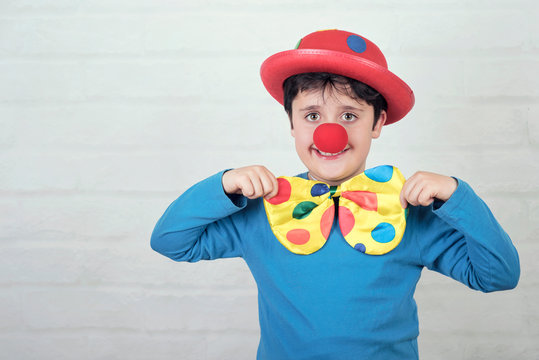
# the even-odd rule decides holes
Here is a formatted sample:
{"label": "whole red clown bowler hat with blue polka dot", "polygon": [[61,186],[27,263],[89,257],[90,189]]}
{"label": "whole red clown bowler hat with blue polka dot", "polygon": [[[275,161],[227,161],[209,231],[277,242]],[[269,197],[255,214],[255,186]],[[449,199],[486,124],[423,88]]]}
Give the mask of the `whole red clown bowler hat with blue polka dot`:
{"label": "whole red clown bowler hat with blue polka dot", "polygon": [[260,68],[264,86],[281,105],[283,82],[307,72],[343,75],[376,89],[387,101],[386,125],[402,119],[414,106],[412,89],[387,69],[386,58],[378,46],[351,32],[313,32],[301,39],[296,49],[270,56]]}

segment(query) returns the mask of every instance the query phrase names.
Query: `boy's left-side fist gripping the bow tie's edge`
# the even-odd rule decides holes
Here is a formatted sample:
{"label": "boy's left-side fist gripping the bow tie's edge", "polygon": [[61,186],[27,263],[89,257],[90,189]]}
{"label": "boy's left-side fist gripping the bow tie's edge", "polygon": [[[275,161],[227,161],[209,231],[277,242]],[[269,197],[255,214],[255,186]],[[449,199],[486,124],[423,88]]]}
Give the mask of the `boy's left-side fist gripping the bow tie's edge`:
{"label": "boy's left-side fist gripping the bow tie's edge", "polygon": [[279,185],[275,176],[264,166],[253,165],[225,172],[222,178],[227,194],[242,194],[249,199],[277,195]]}

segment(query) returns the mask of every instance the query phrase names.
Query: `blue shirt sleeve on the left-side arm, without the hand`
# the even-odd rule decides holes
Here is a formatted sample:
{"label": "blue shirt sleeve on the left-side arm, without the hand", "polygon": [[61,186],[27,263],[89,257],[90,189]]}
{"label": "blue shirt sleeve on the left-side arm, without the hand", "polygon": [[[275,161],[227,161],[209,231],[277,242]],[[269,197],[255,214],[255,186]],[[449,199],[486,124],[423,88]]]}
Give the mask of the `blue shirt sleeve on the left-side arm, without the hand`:
{"label": "blue shirt sleeve on the left-side arm, without the hand", "polygon": [[245,208],[247,199],[224,192],[223,173],[193,185],[170,204],[153,230],[153,250],[189,262],[242,256],[241,231],[231,215]]}

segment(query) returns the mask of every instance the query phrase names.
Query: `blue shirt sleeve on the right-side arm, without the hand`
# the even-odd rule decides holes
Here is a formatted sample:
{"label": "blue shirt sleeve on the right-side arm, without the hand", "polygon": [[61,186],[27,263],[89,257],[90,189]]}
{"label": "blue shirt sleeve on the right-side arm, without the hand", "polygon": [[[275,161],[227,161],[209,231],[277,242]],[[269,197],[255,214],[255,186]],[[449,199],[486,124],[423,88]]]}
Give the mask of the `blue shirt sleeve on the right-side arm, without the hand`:
{"label": "blue shirt sleeve on the right-side arm, without the hand", "polygon": [[516,287],[520,263],[511,239],[472,188],[457,181],[445,203],[416,209],[423,265],[483,292]]}

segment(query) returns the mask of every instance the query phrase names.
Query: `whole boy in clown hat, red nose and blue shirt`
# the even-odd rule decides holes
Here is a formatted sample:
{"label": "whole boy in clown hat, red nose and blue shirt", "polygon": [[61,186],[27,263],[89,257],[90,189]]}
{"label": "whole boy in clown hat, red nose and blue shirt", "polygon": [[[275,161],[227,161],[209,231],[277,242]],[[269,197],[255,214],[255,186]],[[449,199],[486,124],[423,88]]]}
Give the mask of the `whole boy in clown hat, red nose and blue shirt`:
{"label": "whole boy in clown hat, red nose and blue shirt", "polygon": [[375,44],[315,32],[268,58],[261,76],[308,172],[222,171],[174,201],[151,240],[177,261],[245,259],[259,359],[417,359],[424,266],[484,292],[516,286],[517,252],[465,182],[365,169],[372,139],[414,103]]}

